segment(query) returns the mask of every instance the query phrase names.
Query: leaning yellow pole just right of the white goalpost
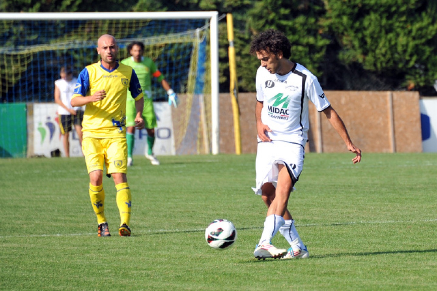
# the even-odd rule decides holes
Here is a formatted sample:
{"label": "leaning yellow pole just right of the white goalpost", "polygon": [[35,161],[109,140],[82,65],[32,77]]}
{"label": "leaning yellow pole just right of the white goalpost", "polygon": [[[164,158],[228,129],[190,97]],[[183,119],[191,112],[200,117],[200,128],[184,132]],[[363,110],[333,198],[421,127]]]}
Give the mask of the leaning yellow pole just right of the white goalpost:
{"label": "leaning yellow pole just right of the white goalpost", "polygon": [[232,14],[226,14],[226,24],[228,27],[228,41],[229,41],[229,79],[232,102],[232,113],[234,116],[234,138],[235,138],[235,153],[241,154],[241,133],[240,133],[240,110],[238,108],[237,99],[237,69],[235,63],[235,48],[234,48],[234,24],[232,21]]}

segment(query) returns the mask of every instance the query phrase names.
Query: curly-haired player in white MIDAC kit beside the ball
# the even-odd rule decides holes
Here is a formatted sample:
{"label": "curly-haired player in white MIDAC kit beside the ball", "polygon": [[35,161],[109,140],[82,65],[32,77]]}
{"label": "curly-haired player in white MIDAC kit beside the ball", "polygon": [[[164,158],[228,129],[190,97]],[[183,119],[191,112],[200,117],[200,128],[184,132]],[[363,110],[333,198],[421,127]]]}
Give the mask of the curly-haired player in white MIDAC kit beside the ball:
{"label": "curly-haired player in white MIDAC kit beside the ball", "polygon": [[[291,44],[281,31],[269,29],[258,34],[251,43],[250,53],[261,62],[256,77],[258,149],[253,191],[262,195],[268,207],[264,230],[253,255],[258,259],[307,258],[309,252],[287,205],[303,167],[309,100],[319,112],[325,113],[347,149],[356,154],[352,159],[354,164],[361,161],[361,150],[350,140],[317,78],[304,66],[289,60]],[[271,244],[278,231],[290,243],[288,250]]]}

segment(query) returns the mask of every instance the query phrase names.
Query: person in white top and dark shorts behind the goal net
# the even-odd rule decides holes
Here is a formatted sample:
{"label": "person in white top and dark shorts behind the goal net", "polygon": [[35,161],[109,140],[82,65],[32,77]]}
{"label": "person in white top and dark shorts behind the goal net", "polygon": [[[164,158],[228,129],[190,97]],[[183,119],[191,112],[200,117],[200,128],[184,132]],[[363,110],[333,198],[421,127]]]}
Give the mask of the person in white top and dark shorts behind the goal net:
{"label": "person in white top and dark shorts behind the goal net", "polygon": [[74,87],[76,86],[77,78],[73,77],[73,72],[68,67],[61,67],[59,71],[61,79],[55,81],[54,98],[58,104],[59,128],[63,137],[65,156],[70,156],[69,147],[69,132],[76,130],[79,144],[82,145],[82,120],[83,108],[72,107],[70,104],[73,96]]}

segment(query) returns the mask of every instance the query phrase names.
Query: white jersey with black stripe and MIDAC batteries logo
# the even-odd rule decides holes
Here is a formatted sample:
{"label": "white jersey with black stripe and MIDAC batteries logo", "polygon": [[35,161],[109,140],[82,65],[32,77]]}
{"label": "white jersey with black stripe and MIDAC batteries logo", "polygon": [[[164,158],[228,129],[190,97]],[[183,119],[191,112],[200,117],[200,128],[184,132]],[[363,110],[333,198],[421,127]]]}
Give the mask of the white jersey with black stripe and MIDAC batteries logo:
{"label": "white jersey with black stripe and MIDAC batteries logo", "polygon": [[272,130],[266,134],[271,140],[305,147],[309,128],[308,100],[319,112],[330,106],[316,76],[299,64],[286,75],[271,74],[260,66],[256,85],[257,100],[263,102],[261,121]]}

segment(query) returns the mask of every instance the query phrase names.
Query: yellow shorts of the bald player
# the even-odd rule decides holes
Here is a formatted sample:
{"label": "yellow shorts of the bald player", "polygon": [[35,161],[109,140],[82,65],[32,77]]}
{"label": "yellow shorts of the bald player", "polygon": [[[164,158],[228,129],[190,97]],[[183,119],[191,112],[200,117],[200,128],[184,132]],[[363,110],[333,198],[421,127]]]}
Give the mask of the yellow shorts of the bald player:
{"label": "yellow shorts of the bald player", "polygon": [[104,165],[108,174],[127,173],[128,147],[123,137],[85,137],[82,140],[82,151],[88,173],[96,170],[103,171]]}

